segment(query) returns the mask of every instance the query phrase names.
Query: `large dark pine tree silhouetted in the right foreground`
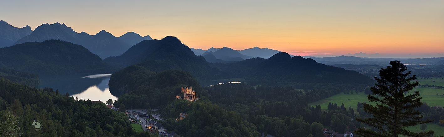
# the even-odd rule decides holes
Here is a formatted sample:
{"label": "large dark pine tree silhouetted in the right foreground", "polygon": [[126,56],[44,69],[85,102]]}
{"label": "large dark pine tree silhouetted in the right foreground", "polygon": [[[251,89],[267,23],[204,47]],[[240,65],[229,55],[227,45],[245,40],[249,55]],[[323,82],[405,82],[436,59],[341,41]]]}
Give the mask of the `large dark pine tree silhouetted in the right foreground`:
{"label": "large dark pine tree silhouetted in the right foreground", "polygon": [[[426,137],[433,135],[433,131],[413,133],[406,129],[409,126],[432,122],[423,116],[415,108],[423,103],[419,91],[409,94],[419,84],[412,82],[416,76],[408,77],[410,71],[404,73],[407,67],[400,61],[390,61],[391,66],[379,70],[380,78],[376,78],[377,84],[370,90],[369,101],[375,102],[376,106],[364,104],[363,109],[373,115],[368,119],[357,118],[357,121],[376,128],[378,131],[360,127],[356,134],[363,137]],[[407,94],[404,94],[407,93]]]}

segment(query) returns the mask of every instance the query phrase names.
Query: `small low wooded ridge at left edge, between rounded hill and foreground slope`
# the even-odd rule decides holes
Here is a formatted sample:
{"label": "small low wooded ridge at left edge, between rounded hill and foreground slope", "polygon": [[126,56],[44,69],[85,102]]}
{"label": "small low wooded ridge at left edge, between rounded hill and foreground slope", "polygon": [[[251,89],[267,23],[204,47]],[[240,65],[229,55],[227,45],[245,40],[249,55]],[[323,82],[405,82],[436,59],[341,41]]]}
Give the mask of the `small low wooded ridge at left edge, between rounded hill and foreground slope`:
{"label": "small low wooded ridge at left edge, between rounded hill and foreground slope", "polygon": [[39,75],[16,71],[14,69],[0,68],[0,76],[3,76],[4,78],[13,82],[27,84],[29,86],[40,84]]}

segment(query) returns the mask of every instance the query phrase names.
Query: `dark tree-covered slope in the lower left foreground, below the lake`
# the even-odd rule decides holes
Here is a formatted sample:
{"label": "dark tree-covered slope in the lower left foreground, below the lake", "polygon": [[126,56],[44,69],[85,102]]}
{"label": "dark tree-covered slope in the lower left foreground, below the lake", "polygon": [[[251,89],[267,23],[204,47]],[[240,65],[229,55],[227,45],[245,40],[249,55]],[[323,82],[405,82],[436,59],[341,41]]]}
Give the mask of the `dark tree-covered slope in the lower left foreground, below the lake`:
{"label": "dark tree-covered slope in the lower left foreground, below the lake", "polygon": [[[0,119],[5,118],[17,119],[10,126],[19,127],[22,137],[150,136],[135,133],[125,114],[104,103],[75,100],[52,88],[28,88],[0,77]],[[34,120],[42,122],[40,131],[31,128]]]}

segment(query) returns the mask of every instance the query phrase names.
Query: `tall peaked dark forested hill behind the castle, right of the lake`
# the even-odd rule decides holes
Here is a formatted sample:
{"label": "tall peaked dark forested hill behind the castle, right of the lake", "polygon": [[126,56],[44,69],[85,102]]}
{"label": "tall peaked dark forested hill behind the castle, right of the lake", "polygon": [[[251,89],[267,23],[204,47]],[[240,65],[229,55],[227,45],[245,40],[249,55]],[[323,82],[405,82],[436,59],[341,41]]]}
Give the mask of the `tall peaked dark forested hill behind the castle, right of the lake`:
{"label": "tall peaked dark forested hill behind the castle, right of the lake", "polygon": [[119,67],[138,63],[137,66],[152,72],[168,69],[184,70],[190,72],[201,83],[230,76],[205,61],[204,57],[196,56],[188,46],[172,36],[162,40],[140,42],[123,55],[108,57],[104,61]]}

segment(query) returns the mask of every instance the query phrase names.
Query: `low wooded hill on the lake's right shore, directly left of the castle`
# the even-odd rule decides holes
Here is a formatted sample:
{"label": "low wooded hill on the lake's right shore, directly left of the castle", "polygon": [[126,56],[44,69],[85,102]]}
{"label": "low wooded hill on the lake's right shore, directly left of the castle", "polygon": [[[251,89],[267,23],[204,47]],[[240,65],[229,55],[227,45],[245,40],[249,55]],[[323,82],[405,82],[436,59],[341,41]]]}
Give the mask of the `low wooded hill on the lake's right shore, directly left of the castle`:
{"label": "low wooded hill on the lake's right shore, directly left of the castle", "polygon": [[203,91],[198,80],[191,76],[190,72],[165,70],[154,73],[135,65],[113,74],[109,85],[112,94],[125,93],[119,97],[119,103],[133,108],[166,105],[186,86],[192,87],[197,96]]}

